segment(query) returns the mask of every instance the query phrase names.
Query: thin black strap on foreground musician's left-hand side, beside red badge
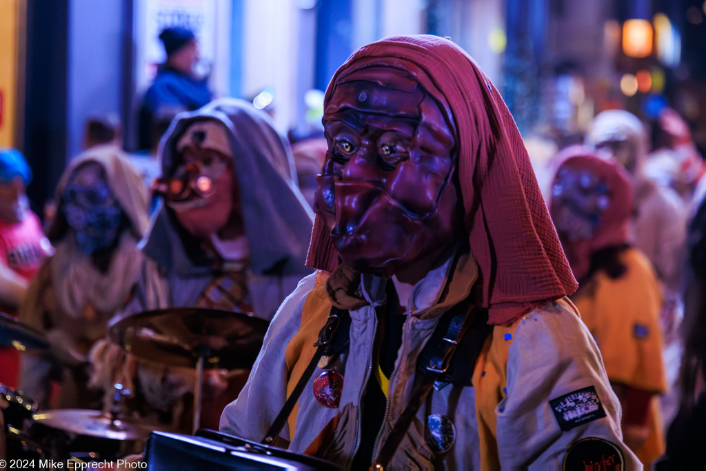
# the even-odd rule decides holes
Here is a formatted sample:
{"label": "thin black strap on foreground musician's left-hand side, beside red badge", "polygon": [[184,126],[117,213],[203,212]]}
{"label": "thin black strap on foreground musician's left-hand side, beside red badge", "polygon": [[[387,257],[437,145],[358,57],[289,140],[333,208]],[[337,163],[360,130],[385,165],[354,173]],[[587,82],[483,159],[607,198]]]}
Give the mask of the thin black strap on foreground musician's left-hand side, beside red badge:
{"label": "thin black strap on foreground musician's left-hand side, beside red badge", "polygon": [[[277,435],[280,434],[280,431],[282,431],[282,427],[285,427],[289,415],[292,414],[292,410],[294,410],[294,405],[297,404],[297,400],[299,400],[299,396],[304,391],[306,383],[309,383],[309,379],[311,378],[314,369],[316,369],[318,360],[321,359],[323,355],[334,354],[336,350],[340,350],[342,347],[340,345],[341,342],[335,341],[337,337],[336,333],[339,330],[342,321],[344,321],[344,324],[349,323],[348,311],[332,306],[325,325],[321,329],[321,332],[318,333],[318,341],[313,344],[314,347],[318,348],[316,349],[316,352],[314,352],[311,362],[309,362],[309,365],[306,366],[306,370],[304,370],[304,374],[302,374],[301,378],[299,378],[297,386],[294,386],[292,394],[290,394],[289,398],[287,398],[285,405],[282,406],[282,410],[280,410],[280,413],[277,414],[277,417],[275,417],[275,421],[270,426],[270,429],[267,434],[265,434],[265,438],[261,443],[265,443],[265,445],[272,444]],[[345,330],[345,333],[347,334],[348,329]],[[345,339],[345,342],[347,343],[347,335],[345,336]]]}

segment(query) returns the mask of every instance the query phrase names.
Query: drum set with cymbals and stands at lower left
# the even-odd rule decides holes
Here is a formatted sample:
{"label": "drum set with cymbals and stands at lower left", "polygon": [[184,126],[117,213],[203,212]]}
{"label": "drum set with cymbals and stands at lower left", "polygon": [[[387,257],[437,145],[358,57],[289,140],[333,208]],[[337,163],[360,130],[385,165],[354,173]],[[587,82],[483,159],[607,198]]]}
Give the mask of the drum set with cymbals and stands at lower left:
{"label": "drum set with cymbals and stands at lower left", "polygon": [[[213,309],[173,308],[127,316],[109,326],[109,338],[139,359],[193,369],[193,430],[201,418],[203,371],[249,369],[261,349],[268,322]],[[42,332],[0,313],[0,345],[42,351]],[[131,395],[115,385],[109,410],[37,410],[31,398],[0,384],[0,461],[114,461],[142,453],[153,431],[164,425],[136,419],[122,400]],[[129,411],[128,411],[129,412]],[[213,436],[210,438],[213,439]]]}

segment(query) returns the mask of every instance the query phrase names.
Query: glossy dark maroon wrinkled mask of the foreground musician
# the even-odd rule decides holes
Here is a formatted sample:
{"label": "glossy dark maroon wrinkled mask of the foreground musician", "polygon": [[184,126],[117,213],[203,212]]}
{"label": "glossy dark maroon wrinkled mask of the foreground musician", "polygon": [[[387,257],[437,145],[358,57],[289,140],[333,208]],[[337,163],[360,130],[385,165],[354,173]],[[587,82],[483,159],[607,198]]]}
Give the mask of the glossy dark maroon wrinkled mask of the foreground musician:
{"label": "glossy dark maroon wrinkled mask of the foreground musician", "polygon": [[462,217],[453,131],[409,73],[351,73],[336,85],[324,126],[314,210],[348,266],[388,278],[455,242]]}

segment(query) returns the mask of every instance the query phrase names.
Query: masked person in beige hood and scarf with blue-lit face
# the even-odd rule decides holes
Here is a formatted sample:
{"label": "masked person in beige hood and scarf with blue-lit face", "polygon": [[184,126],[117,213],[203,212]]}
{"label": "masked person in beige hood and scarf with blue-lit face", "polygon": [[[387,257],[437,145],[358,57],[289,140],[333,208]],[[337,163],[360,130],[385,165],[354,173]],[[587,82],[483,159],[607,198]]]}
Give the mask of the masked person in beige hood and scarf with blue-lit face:
{"label": "masked person in beige hood and scarf with blue-lit face", "polygon": [[40,407],[50,380],[61,383],[58,407],[98,407],[87,391],[88,352],[135,287],[148,227],[147,191],[126,155],[100,145],[76,157],[56,187],[56,217],[47,231],[56,247],[32,279],[21,321],[47,334],[50,350],[26,352],[20,386]]}

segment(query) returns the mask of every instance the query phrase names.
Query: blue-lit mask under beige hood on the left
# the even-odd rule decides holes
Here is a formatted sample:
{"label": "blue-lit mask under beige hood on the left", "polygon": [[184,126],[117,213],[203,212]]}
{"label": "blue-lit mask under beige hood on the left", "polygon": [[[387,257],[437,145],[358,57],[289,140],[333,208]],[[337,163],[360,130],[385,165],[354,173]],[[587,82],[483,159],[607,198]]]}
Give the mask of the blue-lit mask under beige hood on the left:
{"label": "blue-lit mask under beige hood on the left", "polygon": [[61,210],[86,255],[112,245],[119,234],[122,210],[98,164],[78,167],[61,193]]}

